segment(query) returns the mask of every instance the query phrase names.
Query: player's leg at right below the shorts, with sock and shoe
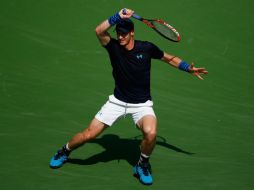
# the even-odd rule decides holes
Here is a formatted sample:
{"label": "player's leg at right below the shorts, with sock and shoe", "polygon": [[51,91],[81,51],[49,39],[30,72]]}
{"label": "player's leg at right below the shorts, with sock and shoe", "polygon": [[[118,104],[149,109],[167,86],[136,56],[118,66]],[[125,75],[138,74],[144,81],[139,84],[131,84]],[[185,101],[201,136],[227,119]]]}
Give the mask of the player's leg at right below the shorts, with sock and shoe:
{"label": "player's leg at right below the shorts, with sock and shoe", "polygon": [[143,133],[143,139],[140,145],[140,158],[137,165],[134,167],[134,174],[139,177],[141,183],[151,185],[153,183],[153,178],[151,175],[149,158],[156,144],[156,117],[154,115],[146,115],[138,121],[137,126]]}

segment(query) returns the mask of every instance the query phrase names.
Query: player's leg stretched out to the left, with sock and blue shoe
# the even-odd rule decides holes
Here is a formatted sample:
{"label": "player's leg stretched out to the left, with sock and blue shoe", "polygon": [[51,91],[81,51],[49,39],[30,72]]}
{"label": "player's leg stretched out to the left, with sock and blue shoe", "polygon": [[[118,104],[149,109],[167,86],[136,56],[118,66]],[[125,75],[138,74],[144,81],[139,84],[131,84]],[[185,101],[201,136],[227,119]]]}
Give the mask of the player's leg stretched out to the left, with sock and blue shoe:
{"label": "player's leg stretched out to the left, with sock and blue shoe", "polygon": [[62,147],[62,149],[57,151],[57,153],[50,160],[50,167],[61,167],[67,161],[71,151],[84,145],[86,142],[95,139],[106,127],[106,124],[94,118],[84,131],[74,135],[73,138]]}

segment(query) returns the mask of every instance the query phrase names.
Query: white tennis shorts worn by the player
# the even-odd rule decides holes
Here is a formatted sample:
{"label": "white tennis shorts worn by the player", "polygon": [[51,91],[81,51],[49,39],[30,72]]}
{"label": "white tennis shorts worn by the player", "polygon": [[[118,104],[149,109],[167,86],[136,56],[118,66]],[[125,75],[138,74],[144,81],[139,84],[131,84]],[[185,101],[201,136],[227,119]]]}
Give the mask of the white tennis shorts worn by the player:
{"label": "white tennis shorts worn by the player", "polygon": [[102,106],[101,110],[95,115],[95,118],[111,126],[116,120],[123,116],[125,117],[127,114],[132,115],[135,124],[146,115],[156,117],[151,100],[140,104],[129,104],[118,100],[114,95],[110,95],[109,100]]}

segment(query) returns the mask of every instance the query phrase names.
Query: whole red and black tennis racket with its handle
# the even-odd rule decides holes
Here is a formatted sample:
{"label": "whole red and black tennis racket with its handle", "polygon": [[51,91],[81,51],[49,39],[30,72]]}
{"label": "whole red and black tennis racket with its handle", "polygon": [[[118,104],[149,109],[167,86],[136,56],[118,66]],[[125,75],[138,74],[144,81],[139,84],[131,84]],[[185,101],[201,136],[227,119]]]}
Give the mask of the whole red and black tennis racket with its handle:
{"label": "whole red and black tennis racket with its handle", "polygon": [[[126,13],[126,9],[123,9],[123,14]],[[173,42],[179,42],[181,40],[180,34],[177,30],[161,19],[145,19],[137,14],[132,15],[133,18],[145,23],[150,28],[154,29],[162,37],[171,40]]]}

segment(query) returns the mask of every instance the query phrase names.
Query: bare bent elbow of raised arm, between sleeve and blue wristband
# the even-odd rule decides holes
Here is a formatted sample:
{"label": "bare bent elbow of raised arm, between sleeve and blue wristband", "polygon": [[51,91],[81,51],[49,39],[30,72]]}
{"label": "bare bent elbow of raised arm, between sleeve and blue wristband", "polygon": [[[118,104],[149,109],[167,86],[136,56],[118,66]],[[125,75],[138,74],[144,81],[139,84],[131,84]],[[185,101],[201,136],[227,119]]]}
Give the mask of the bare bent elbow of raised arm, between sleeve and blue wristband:
{"label": "bare bent elbow of raised arm, between sleeve and blue wristband", "polygon": [[108,20],[103,21],[101,24],[99,24],[96,29],[96,36],[98,37],[101,45],[106,46],[110,41],[110,34],[107,32],[110,28],[110,24]]}

